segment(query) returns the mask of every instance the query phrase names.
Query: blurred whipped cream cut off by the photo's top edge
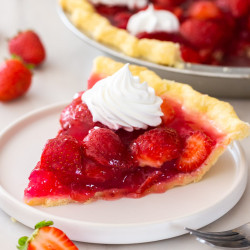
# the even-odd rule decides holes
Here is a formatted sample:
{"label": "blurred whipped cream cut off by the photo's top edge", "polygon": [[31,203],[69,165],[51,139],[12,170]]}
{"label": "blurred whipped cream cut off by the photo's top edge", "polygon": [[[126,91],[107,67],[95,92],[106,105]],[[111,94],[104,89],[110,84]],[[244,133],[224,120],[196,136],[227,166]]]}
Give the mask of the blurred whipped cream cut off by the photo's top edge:
{"label": "blurred whipped cream cut off by the photo's top edge", "polygon": [[148,4],[148,0],[90,0],[90,2],[107,6],[127,6],[129,9],[143,8]]}

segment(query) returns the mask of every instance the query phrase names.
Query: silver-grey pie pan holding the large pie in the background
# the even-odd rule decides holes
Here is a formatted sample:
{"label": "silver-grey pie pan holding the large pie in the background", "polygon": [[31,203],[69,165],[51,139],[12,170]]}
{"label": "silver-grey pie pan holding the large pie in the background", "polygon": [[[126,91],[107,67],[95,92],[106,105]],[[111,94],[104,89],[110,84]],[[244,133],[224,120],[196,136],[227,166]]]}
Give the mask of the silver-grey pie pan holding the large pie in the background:
{"label": "silver-grey pie pan holding the large pie in the background", "polygon": [[199,92],[217,97],[250,97],[250,67],[223,67],[201,64],[184,64],[183,69],[167,67],[139,58],[126,56],[114,48],[95,41],[75,27],[70,17],[60,6],[59,16],[65,26],[82,41],[122,62],[143,65],[152,69],[162,78],[188,83]]}

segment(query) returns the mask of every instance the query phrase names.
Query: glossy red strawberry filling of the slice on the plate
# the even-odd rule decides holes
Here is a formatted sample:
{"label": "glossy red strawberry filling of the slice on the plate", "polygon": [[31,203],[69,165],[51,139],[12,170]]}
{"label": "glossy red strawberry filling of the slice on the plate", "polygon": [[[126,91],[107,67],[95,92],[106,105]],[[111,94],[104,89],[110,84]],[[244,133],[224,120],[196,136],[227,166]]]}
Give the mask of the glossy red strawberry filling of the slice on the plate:
{"label": "glossy red strawberry filling of the slice on the plate", "polygon": [[[89,86],[100,78],[92,75]],[[62,111],[61,130],[48,140],[29,177],[27,203],[34,197],[85,202],[98,195],[111,200],[165,192],[174,178],[199,171],[223,139],[200,115],[167,96],[160,125],[111,130],[93,121],[81,95]]]}

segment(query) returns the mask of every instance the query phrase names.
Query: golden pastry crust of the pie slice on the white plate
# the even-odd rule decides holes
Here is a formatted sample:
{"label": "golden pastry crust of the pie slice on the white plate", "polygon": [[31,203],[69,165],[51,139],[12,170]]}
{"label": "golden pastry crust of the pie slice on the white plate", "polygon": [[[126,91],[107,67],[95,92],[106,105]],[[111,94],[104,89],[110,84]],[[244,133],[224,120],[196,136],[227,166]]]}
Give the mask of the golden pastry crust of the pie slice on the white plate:
{"label": "golden pastry crust of the pie slice on the white plate", "polygon": [[[95,59],[92,75],[104,78],[115,73],[123,65],[123,63],[116,62],[108,57],[98,57]],[[219,156],[226,150],[227,146],[233,140],[243,139],[250,135],[250,125],[238,118],[233,107],[229,103],[219,101],[208,95],[203,95],[193,90],[189,85],[161,79],[153,71],[150,71],[145,67],[136,65],[130,65],[129,67],[132,74],[139,76],[142,82],[146,81],[155,89],[157,95],[167,97],[169,100],[178,102],[185,114],[192,117],[197,116],[197,121],[200,121],[202,124],[209,124],[209,126],[215,128],[220,134],[219,142],[216,144],[215,148],[213,148],[209,157],[198,169],[191,173],[178,173],[167,183],[156,183],[151,186],[150,189],[146,190],[143,195],[146,195],[147,193],[165,192],[175,186],[183,186],[199,181],[214,165]],[[110,197],[112,197],[114,189],[111,191],[105,190],[105,192],[97,192],[94,197],[84,202],[87,203],[97,199],[109,199],[107,198],[109,196],[109,192]],[[141,197],[134,193],[132,195],[125,196],[132,198]],[[68,196],[41,198],[24,197],[24,200],[29,205],[45,206],[63,205],[75,202]]]}

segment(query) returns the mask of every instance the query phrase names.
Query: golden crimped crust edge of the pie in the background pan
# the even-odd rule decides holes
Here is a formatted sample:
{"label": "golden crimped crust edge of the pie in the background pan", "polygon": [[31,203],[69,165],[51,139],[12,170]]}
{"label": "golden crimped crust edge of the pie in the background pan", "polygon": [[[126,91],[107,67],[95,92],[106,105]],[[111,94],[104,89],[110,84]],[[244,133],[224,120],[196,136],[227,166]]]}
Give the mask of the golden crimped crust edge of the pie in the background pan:
{"label": "golden crimped crust edge of the pie in the background pan", "polygon": [[179,44],[155,39],[138,39],[126,30],[111,25],[87,0],[59,0],[59,4],[71,22],[96,41],[131,57],[183,67]]}

